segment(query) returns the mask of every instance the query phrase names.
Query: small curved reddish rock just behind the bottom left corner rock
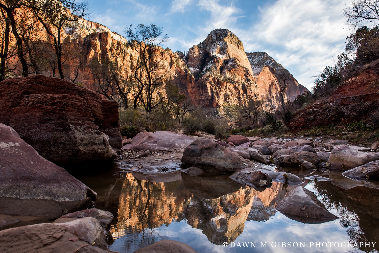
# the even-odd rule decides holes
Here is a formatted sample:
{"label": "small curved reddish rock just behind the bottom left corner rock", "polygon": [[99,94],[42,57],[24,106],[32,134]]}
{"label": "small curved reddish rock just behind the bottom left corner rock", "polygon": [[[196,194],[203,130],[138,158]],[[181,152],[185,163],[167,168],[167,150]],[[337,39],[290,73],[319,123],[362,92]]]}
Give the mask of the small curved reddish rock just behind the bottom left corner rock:
{"label": "small curved reddish rock just behind the bottom left corner rock", "polygon": [[84,218],[84,217],[92,217],[95,218],[103,229],[108,230],[111,222],[113,220],[113,214],[108,211],[103,211],[97,208],[90,208],[83,211],[72,212],[70,214],[65,214],[60,217],[55,223],[64,223],[65,219],[69,218]]}

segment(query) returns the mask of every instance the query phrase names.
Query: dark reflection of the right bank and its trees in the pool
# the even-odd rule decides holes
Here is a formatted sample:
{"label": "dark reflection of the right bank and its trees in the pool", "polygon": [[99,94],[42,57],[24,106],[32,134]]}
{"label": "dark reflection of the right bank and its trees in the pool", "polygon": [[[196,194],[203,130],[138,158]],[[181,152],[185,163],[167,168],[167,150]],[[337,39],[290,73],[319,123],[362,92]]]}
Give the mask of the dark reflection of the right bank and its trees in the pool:
{"label": "dark reflection of the right bank and its trees in the pool", "polygon": [[[324,203],[327,209],[337,211],[340,225],[346,229],[352,244],[376,242],[379,239],[376,231],[376,227],[379,225],[379,213],[375,208],[379,195],[375,197],[366,194],[366,192],[376,190],[364,186],[343,190],[330,181],[313,182],[313,184],[318,191],[316,193],[318,199]],[[377,252],[374,248],[361,248],[361,250]]]}

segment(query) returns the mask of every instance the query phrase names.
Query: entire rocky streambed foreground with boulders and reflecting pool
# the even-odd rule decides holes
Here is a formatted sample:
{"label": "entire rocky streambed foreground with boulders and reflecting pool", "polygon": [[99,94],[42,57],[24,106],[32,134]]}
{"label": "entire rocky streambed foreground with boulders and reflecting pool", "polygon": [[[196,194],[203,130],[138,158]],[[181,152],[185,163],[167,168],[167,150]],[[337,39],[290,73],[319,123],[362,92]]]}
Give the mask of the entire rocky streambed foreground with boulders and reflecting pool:
{"label": "entire rocky streambed foreground with boulders and reflecting pool", "polygon": [[233,243],[294,240],[376,250],[379,143],[122,140],[117,106],[92,91],[39,75],[0,91],[2,252],[244,252]]}

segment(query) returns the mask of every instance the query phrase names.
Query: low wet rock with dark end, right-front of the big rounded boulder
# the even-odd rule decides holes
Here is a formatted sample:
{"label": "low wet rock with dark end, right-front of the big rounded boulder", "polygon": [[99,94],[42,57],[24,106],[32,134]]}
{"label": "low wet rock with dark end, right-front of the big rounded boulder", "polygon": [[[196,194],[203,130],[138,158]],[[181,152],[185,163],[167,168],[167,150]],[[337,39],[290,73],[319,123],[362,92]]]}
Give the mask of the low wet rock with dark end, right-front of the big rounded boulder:
{"label": "low wet rock with dark end, right-front of the big rounded boulder", "polygon": [[233,179],[240,184],[246,184],[254,189],[265,189],[268,185],[271,185],[271,176],[266,175],[261,171],[237,171],[233,173],[229,178]]}

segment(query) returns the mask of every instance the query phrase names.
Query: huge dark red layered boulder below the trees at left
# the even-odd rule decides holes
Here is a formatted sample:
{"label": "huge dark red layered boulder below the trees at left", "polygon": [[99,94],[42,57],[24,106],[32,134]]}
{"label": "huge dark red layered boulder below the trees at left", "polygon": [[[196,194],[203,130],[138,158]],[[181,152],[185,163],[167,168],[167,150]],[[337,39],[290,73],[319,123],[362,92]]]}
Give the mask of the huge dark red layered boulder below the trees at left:
{"label": "huge dark red layered boulder below the trees at left", "polygon": [[111,159],[120,152],[115,101],[44,75],[6,79],[0,94],[0,123],[52,162]]}

